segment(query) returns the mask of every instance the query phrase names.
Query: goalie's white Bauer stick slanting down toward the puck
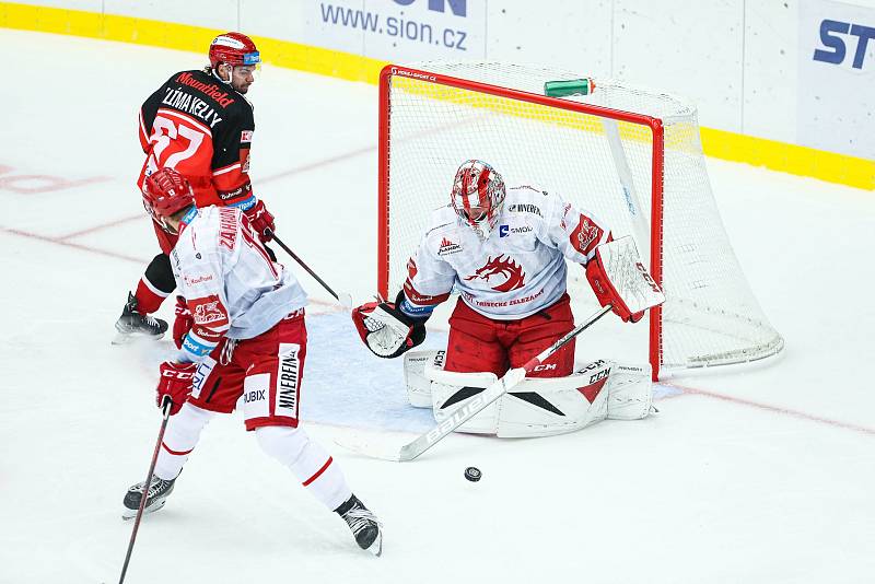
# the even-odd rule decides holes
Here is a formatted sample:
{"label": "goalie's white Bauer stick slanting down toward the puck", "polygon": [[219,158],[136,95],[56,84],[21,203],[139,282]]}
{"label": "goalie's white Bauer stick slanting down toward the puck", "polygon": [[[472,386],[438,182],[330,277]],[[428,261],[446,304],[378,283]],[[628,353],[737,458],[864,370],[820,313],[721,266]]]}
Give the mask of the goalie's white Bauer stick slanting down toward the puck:
{"label": "goalie's white Bauer stick slanting down toward the puck", "polygon": [[373,458],[382,458],[384,460],[392,460],[395,463],[404,463],[408,460],[412,460],[423,452],[428,451],[432,446],[434,446],[438,442],[445,439],[453,432],[456,428],[464,424],[475,416],[477,416],[480,411],[482,411],[487,406],[499,399],[501,396],[510,392],[516,385],[522,382],[526,374],[530,373],[536,366],[540,363],[546,361],[550,358],[555,352],[559,349],[564,347],[571,339],[590,328],[596,320],[605,316],[607,313],[611,311],[611,305],[608,304],[604,308],[599,309],[585,323],[579,325],[573,330],[568,332],[564,337],[560,338],[558,341],[552,343],[550,347],[538,353],[536,357],[529,359],[522,367],[512,369],[508,373],[505,373],[500,379],[492,383],[489,387],[477,394],[471,400],[466,404],[464,407],[457,409],[453,412],[453,414],[434,427],[433,429],[429,430],[424,434],[421,434],[419,437],[401,446],[397,451],[386,452],[386,453],[372,453],[369,452],[366,446],[364,445],[352,445],[352,444],[345,444],[343,442],[338,442],[341,446],[349,448],[353,452],[359,454],[363,454],[365,456],[371,456]]}

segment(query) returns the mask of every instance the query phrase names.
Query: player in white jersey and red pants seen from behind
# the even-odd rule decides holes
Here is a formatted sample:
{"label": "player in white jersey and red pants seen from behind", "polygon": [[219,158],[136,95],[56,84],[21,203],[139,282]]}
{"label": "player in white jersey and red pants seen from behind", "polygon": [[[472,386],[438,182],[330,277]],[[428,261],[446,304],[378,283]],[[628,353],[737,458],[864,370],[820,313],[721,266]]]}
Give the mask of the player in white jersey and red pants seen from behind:
{"label": "player in white jersey and red pants seen from behind", "polygon": [[[337,462],[299,428],[306,358],[306,294],[294,276],[271,261],[245,214],[233,207],[194,206],[187,179],[172,168],[147,178],[147,200],[178,242],[171,253],[176,285],[187,300],[175,361],[161,364],[158,402],[173,401],[149,488],[147,512],[161,509],[215,413],[230,413],[243,397],[246,429],[261,448],[298,477],[349,525],[355,541],[382,551],[376,517],[352,493]],[[137,513],[143,484],[125,497],[125,516]]]}

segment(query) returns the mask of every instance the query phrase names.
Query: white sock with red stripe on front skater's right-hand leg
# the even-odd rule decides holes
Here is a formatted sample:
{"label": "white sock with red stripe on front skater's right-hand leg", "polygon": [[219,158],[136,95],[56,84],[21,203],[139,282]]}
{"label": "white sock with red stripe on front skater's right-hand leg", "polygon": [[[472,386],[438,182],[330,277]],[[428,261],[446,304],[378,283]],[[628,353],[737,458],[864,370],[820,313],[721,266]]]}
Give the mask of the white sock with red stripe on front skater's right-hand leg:
{"label": "white sock with red stripe on front skater's right-hand leg", "polygon": [[257,428],[255,435],[261,449],[289,467],[301,484],[330,511],[352,495],[340,465],[302,429],[267,425]]}

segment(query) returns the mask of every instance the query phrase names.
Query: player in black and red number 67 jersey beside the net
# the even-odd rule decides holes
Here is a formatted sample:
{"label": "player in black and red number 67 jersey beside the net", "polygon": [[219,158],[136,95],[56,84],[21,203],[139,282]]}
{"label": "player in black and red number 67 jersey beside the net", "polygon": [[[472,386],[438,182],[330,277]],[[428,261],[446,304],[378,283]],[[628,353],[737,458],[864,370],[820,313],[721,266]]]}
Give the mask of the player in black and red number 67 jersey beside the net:
{"label": "player in black and red number 67 jersey beside the net", "polygon": [[[255,131],[253,106],[244,94],[255,82],[261,59],[253,40],[241,33],[215,37],[210,66],[180,71],[162,84],[140,108],[140,144],[145,162],[137,186],[163,167],[176,170],[195,189],[198,207],[233,206],[249,218],[262,242],[273,232],[273,215],[253,192],[249,145]],[[116,322],[121,342],[131,335],[161,338],[167,323],[150,316],[176,288],[167,254],[176,244],[153,217],[161,254],[128,293]]]}

